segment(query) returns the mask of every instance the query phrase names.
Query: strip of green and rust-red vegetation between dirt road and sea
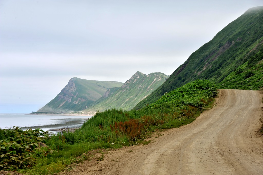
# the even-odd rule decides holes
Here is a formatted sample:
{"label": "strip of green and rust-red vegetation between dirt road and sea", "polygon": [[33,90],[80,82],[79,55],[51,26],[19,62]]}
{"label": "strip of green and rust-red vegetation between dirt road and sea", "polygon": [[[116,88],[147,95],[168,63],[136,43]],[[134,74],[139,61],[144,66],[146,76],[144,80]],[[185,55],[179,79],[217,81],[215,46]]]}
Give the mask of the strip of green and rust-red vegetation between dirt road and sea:
{"label": "strip of green and rust-red vegetation between dirt road and sea", "polygon": [[[191,123],[213,101],[214,83],[196,80],[140,110],[110,109],[97,112],[75,132],[53,134],[41,129],[0,130],[0,168],[23,174],[54,174],[71,163],[90,159],[97,148],[120,148],[142,143],[151,131]],[[47,147],[39,147],[43,142]],[[98,158],[103,159],[102,156]]]}

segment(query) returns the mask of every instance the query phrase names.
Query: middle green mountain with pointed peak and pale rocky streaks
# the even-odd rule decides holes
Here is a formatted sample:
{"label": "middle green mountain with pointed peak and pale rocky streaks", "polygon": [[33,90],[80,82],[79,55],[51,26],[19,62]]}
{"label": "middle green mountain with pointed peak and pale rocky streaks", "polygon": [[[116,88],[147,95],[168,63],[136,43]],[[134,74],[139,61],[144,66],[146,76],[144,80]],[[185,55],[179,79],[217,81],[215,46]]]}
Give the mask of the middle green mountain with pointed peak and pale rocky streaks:
{"label": "middle green mountain with pointed peak and pale rocky streaks", "polygon": [[100,99],[85,111],[105,111],[110,108],[130,110],[161,86],[167,78],[167,75],[160,72],[146,75],[137,71],[122,87],[108,89]]}

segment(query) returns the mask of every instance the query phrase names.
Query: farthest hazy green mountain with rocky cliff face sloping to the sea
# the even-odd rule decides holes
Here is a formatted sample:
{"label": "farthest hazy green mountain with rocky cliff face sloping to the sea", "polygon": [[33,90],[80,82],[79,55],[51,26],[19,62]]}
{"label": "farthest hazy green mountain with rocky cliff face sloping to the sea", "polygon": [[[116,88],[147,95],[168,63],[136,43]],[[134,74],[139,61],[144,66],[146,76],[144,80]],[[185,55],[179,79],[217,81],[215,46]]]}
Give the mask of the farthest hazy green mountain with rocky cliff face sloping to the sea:
{"label": "farthest hazy green mountain with rocky cliff face sloping to the sea", "polygon": [[115,81],[94,81],[74,77],[53,100],[37,112],[82,111],[102,97],[109,88],[122,85],[123,83]]}

